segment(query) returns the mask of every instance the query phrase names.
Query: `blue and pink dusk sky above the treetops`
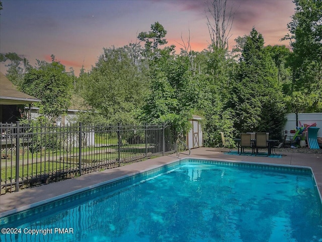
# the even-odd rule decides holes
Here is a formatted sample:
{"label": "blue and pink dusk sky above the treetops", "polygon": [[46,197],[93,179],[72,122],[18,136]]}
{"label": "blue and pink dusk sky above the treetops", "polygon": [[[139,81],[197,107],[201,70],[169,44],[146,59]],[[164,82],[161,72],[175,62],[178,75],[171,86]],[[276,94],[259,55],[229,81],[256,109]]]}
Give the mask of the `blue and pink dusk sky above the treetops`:
{"label": "blue and pink dusk sky above the treetops", "polygon": [[[73,67],[75,75],[90,71],[103,48],[138,42],[137,35],[159,22],[168,31],[168,45],[178,48],[181,37],[193,50],[207,48],[210,37],[204,0],[129,1],[8,1],[1,0],[0,52],[16,52],[34,66],[36,59]],[[253,26],[265,45],[289,45],[279,41],[288,33],[295,5],[291,0],[228,0],[234,21],[229,48],[237,36],[249,35]],[[227,8],[230,10],[230,7]],[[143,43],[142,43],[143,44]],[[6,73],[4,65],[1,72]]]}

